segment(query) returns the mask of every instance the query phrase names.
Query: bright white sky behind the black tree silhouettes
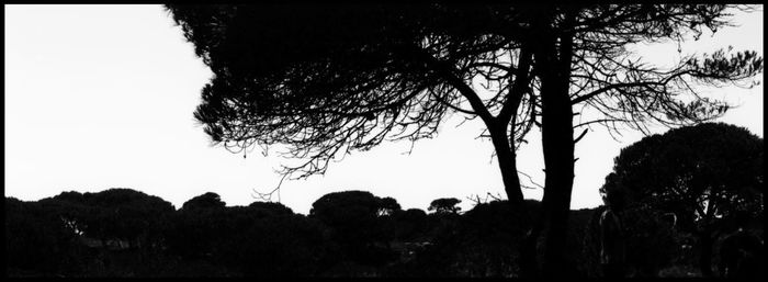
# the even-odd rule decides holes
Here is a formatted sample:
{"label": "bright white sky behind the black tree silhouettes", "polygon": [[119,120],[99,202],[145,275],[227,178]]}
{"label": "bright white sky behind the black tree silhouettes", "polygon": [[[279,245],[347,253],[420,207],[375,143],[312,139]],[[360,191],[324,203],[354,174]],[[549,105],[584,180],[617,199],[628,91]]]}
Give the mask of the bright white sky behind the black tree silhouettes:
{"label": "bright white sky behind the black tree silhouettes", "polygon": [[[738,26],[685,44],[682,54],[727,45],[764,54],[763,8],[734,22]],[[266,192],[280,181],[273,169],[283,159],[256,151],[244,159],[211,146],[192,117],[211,71],[160,5],[5,5],[4,47],[7,196],[36,201],[63,191],[131,188],[177,207],[208,191],[228,205],[247,205],[256,201],[251,189]],[[680,56],[676,44],[639,50],[659,65]],[[764,136],[763,86],[707,91],[739,105],[721,121]],[[383,144],[331,163],[325,176],[285,181],[281,202],[306,214],[324,194],[366,190],[404,208],[458,198],[468,210],[466,196],[504,195],[490,142],[475,139],[483,125],[455,127],[462,120],[454,115],[409,156],[409,143]],[[613,157],[642,137],[625,131],[617,142],[598,127],[586,135],[576,150],[572,208],[601,203],[598,188]],[[520,170],[543,183],[538,131],[528,139]],[[540,199],[542,191],[523,192]]]}

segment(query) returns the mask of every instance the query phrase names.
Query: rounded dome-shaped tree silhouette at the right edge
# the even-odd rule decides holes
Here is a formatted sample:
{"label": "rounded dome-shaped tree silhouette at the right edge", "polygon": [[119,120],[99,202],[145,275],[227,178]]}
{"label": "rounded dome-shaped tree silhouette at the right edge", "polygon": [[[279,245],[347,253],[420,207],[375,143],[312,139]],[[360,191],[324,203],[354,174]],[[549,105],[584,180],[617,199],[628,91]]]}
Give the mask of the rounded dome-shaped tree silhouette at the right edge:
{"label": "rounded dome-shaped tree silhouette at the right edge", "polygon": [[621,150],[601,192],[675,213],[677,226],[699,238],[699,267],[711,275],[714,241],[763,214],[763,144],[723,123],[652,135]]}

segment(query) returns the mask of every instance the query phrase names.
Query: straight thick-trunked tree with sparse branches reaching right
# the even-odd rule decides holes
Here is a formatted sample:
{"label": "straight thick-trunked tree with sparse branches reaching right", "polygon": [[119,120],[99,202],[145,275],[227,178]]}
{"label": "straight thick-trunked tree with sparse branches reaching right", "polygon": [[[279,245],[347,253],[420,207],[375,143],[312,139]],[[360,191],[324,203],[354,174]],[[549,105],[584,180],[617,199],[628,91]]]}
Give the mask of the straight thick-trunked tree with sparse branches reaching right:
{"label": "straight thick-trunked tree with sparse branches reaching right", "polygon": [[[629,50],[641,42],[677,41],[727,24],[725,5],[633,4],[556,5],[540,9],[531,25],[533,69],[540,79],[540,112],[546,180],[543,206],[549,218],[544,273],[564,264],[567,217],[574,178],[575,144],[587,133],[574,128],[602,124],[647,132],[652,123],[679,126],[721,116],[729,104],[709,99],[696,83],[722,86],[763,70],[755,52],[687,56],[662,69]],[[574,112],[573,108],[580,110]],[[574,124],[579,115],[580,123]],[[539,228],[532,233],[538,236]],[[549,270],[547,270],[549,269]],[[562,272],[561,272],[562,273]]]}

